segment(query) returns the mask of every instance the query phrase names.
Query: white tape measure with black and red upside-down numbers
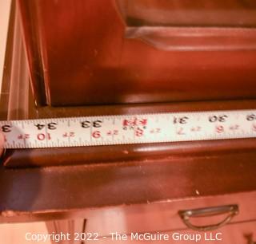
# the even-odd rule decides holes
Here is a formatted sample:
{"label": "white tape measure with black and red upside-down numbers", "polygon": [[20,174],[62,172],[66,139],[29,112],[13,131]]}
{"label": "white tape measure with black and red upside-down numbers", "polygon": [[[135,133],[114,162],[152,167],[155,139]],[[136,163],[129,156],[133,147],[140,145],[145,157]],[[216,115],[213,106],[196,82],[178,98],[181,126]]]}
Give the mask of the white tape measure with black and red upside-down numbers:
{"label": "white tape measure with black and red upside-down numbers", "polygon": [[4,148],[60,148],[256,137],[256,110],[0,121]]}

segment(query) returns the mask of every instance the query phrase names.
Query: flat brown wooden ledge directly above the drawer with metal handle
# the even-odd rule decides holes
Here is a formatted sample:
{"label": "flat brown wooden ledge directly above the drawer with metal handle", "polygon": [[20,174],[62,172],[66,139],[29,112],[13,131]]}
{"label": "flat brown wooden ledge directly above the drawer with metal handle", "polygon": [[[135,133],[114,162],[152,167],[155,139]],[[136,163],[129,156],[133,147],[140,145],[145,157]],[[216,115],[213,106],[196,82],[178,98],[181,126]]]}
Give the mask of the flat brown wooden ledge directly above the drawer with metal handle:
{"label": "flat brown wooden ledge directly above the drawer with metal handle", "polygon": [[[0,221],[74,218],[97,207],[254,191],[255,151],[0,170]],[[79,215],[80,211],[86,211]],[[80,212],[81,214],[81,212]],[[89,219],[89,217],[88,217]]]}

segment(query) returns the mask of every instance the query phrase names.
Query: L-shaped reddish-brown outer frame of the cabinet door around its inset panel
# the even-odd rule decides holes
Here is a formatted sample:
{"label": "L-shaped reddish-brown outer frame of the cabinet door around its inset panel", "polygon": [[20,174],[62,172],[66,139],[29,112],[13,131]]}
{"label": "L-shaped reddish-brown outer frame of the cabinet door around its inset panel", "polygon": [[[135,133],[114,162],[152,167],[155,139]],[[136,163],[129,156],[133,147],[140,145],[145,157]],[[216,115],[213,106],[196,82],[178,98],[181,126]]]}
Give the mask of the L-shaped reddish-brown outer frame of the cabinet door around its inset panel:
{"label": "L-shaped reddish-brown outer frame of the cabinet door around its inset panel", "polygon": [[[256,96],[253,28],[246,34],[231,30],[224,39],[219,32],[213,34],[214,30],[208,33],[199,30],[196,33],[202,35],[191,39],[189,51],[163,51],[124,37],[125,25],[112,0],[18,2],[39,104],[120,104]],[[179,37],[176,41],[184,41],[186,45],[190,34],[184,35],[185,41]],[[247,43],[246,38],[251,35],[253,39]],[[217,37],[218,47],[238,42],[241,48],[209,52],[208,37],[210,40]],[[200,45],[204,51],[195,51]]]}

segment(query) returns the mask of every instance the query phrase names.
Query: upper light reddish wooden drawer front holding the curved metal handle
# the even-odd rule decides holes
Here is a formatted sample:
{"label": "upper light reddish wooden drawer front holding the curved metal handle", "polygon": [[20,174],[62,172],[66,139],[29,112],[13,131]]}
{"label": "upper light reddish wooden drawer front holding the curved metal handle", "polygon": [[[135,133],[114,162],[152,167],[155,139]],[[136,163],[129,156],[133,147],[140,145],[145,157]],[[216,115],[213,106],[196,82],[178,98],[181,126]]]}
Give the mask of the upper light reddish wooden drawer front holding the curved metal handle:
{"label": "upper light reddish wooden drawer front holding the curved metal handle", "polygon": [[[256,191],[232,195],[183,199],[170,203],[151,203],[130,207],[107,208],[92,211],[87,216],[86,231],[109,235],[110,232],[129,234],[144,231],[169,231],[187,228],[178,211],[197,208],[238,205],[239,212],[228,222],[256,219]],[[207,215],[209,215],[208,213]],[[211,226],[222,222],[230,213],[189,219],[195,226]]]}

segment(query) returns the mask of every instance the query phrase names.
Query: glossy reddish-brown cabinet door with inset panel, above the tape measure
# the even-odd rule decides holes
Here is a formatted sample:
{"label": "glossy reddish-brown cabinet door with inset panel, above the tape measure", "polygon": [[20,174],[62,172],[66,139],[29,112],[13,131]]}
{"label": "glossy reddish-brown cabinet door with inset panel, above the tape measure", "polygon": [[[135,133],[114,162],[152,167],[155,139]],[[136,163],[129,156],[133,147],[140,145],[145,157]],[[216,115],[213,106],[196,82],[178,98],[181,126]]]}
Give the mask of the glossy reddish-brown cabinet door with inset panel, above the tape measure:
{"label": "glossy reddish-brown cabinet door with inset panel, above the tape measure", "polygon": [[18,3],[38,104],[256,96],[254,0]]}

